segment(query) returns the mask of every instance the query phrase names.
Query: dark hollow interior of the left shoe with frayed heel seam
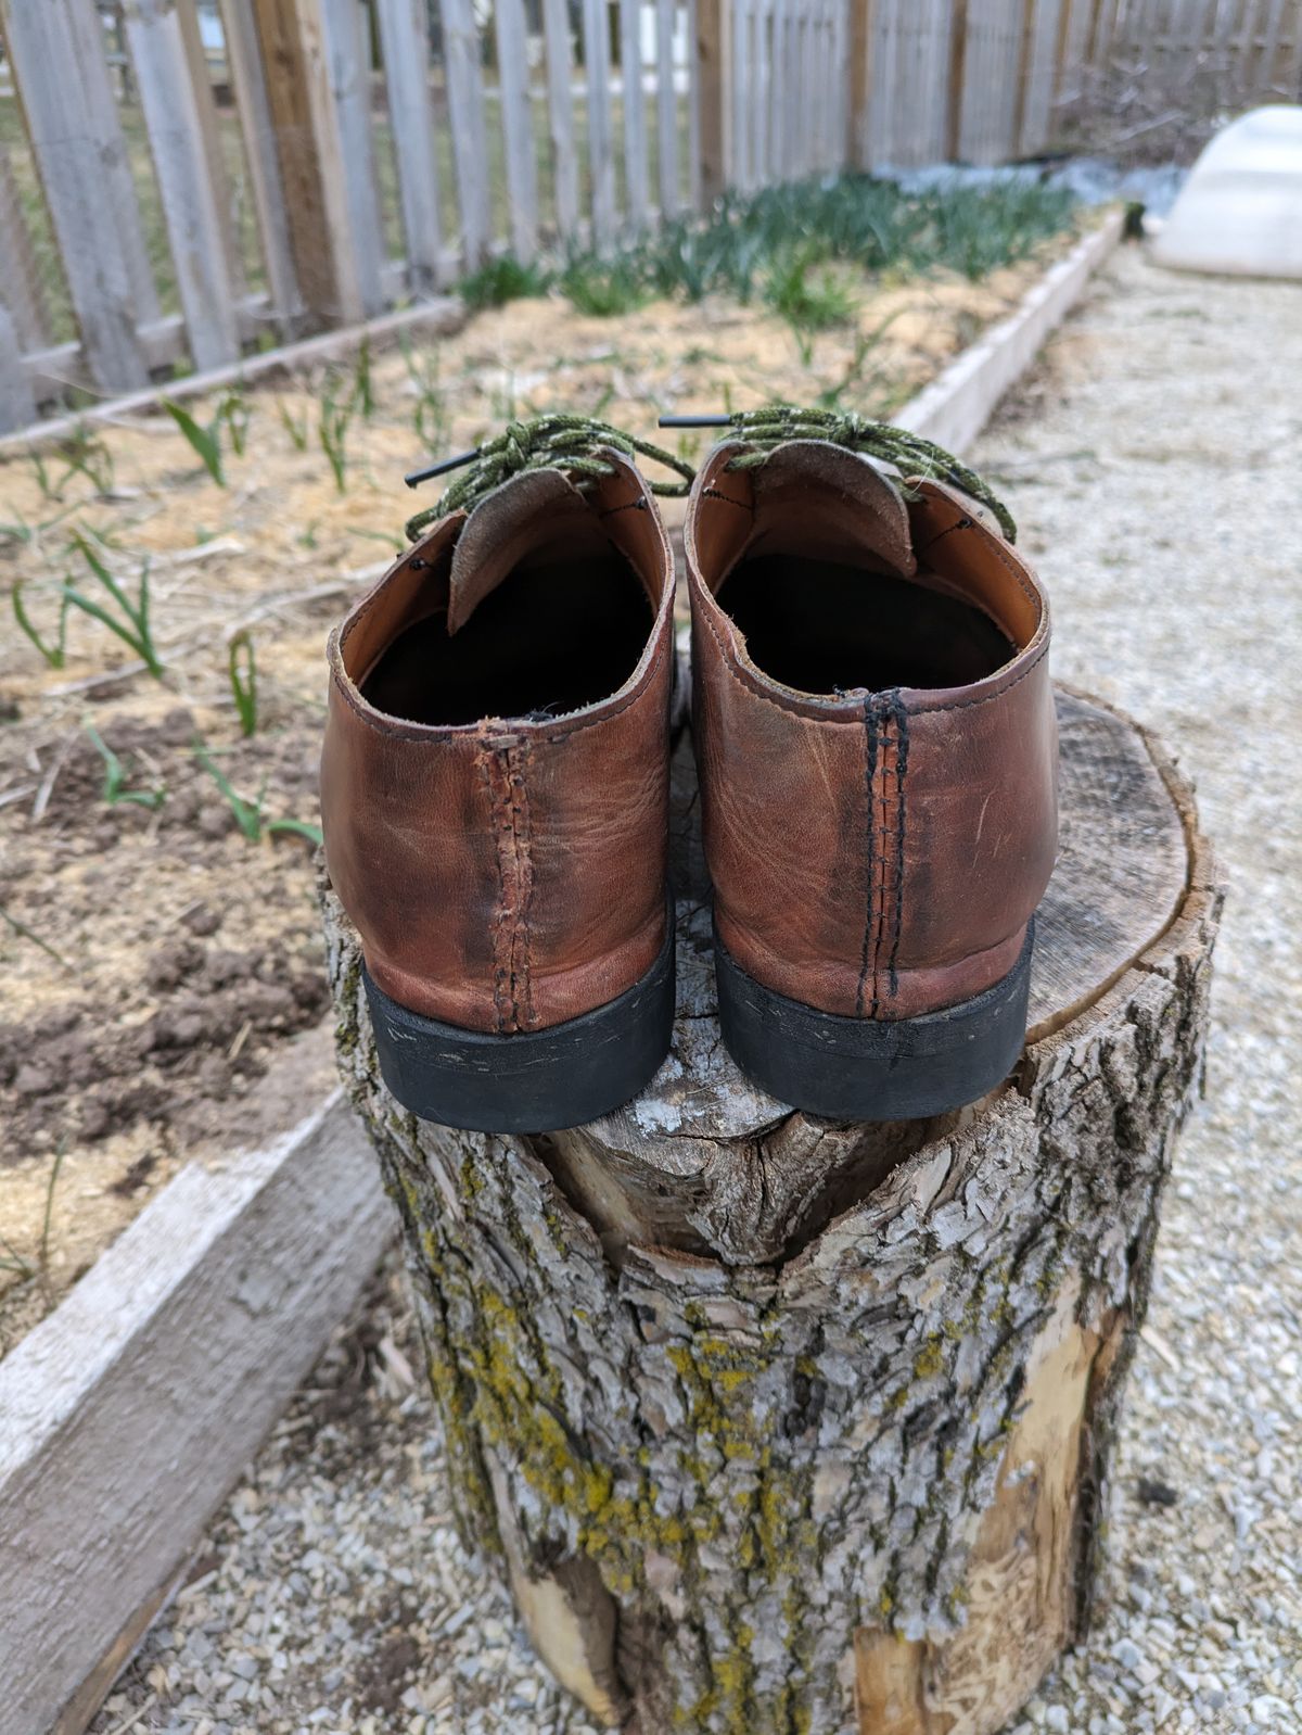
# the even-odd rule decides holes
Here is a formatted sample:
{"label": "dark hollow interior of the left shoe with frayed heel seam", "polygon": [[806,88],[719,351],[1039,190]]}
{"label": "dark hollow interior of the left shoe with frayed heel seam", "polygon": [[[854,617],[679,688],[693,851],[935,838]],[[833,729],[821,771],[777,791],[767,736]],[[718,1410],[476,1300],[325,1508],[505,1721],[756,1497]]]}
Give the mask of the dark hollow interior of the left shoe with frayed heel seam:
{"label": "dark hollow interior of the left shoe with frayed heel seam", "polygon": [[614,550],[520,566],[456,635],[446,607],[399,632],[361,691],[413,723],[563,717],[624,685],[652,619],[641,579]]}

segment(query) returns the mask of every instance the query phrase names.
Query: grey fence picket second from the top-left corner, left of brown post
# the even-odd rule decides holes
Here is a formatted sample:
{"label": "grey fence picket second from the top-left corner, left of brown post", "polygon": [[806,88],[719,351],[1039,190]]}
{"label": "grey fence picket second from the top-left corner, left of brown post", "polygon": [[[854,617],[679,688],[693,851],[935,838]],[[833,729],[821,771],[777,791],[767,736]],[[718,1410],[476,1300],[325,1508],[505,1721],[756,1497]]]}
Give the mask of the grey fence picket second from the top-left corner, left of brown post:
{"label": "grey fence picket second from the top-left corner, left of brown post", "polygon": [[206,373],[236,359],[239,335],[222,217],[175,9],[166,0],[135,0],[127,10],[127,45],[163,198],[191,357],[196,370]]}

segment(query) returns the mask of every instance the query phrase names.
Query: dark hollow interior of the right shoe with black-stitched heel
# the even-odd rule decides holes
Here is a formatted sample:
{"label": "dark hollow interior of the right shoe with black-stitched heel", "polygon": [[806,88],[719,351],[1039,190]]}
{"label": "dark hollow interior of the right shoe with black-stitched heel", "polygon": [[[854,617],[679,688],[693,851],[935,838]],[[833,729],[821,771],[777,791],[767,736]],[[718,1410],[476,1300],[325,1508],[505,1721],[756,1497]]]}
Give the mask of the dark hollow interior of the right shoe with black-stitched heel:
{"label": "dark hollow interior of the right shoe with black-stitched heel", "polygon": [[1016,654],[988,614],[919,576],[763,553],[732,569],[718,604],[756,668],[797,692],[966,687]]}

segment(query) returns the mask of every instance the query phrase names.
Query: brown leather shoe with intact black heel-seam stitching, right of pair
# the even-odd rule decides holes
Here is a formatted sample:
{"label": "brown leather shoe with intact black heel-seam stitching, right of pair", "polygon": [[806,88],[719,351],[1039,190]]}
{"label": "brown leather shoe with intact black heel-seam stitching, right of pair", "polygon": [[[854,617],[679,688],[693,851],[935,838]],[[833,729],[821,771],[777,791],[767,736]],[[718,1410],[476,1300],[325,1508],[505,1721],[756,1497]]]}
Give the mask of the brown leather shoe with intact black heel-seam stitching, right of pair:
{"label": "brown leather shoe with intact black heel-seam stitching, right of pair", "polygon": [[938,1114],[1025,1043],[1056,852],[1049,609],[938,448],[732,422],[687,520],[723,1036],[813,1114]]}

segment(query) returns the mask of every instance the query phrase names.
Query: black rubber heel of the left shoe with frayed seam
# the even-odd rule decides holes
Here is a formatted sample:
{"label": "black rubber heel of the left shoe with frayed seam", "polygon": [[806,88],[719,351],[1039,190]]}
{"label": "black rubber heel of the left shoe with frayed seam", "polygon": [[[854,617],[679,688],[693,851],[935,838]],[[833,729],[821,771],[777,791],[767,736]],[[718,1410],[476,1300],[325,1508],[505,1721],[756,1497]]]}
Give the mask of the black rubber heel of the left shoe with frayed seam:
{"label": "black rubber heel of the left shoe with frayed seam", "polygon": [[362,970],[380,1072],[421,1121],[477,1133],[555,1133],[610,1114],[647,1084],[674,1024],[674,925],[617,999],[546,1031],[496,1036],[425,1018]]}

